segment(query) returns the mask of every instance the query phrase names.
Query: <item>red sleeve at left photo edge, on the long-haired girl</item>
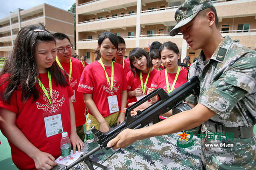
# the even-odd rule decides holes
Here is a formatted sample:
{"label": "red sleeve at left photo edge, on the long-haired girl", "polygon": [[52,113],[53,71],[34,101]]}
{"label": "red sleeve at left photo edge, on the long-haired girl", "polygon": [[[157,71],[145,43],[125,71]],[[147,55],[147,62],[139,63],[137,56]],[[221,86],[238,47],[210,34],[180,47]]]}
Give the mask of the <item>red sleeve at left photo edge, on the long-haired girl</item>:
{"label": "red sleeve at left photo edge, on the long-haired girl", "polygon": [[[2,84],[4,81],[6,81],[6,78],[8,78],[8,75],[7,74],[3,75],[1,77],[0,84]],[[6,89],[7,85],[8,85],[8,81],[6,81],[4,84],[2,84],[0,86],[0,107],[4,108],[4,109],[7,109],[7,110],[9,110],[11,112],[17,113],[18,112],[18,107],[17,107],[17,90],[15,90],[12,93],[10,104],[8,104],[6,102],[3,102],[3,92]]]}

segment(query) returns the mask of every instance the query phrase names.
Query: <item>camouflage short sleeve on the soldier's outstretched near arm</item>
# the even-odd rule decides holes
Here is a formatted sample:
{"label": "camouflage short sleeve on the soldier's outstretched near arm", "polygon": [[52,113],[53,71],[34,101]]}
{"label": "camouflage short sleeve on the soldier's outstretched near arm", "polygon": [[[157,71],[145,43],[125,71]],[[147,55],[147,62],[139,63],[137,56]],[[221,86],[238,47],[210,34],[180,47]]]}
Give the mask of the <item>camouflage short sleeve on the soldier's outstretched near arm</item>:
{"label": "camouflage short sleeve on the soldier's outstretched near arm", "polygon": [[244,55],[201,95],[198,102],[227,119],[239,100],[256,92],[255,63],[256,54]]}

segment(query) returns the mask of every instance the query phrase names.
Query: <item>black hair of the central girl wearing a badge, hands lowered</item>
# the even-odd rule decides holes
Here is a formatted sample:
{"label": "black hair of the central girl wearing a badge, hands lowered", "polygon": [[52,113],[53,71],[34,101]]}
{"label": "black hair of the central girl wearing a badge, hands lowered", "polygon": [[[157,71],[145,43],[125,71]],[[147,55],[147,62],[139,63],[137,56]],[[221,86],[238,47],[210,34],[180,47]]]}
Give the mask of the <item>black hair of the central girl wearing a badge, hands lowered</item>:
{"label": "black hair of the central girl wearing a badge, hands lowered", "polygon": [[[116,35],[114,35],[112,32],[102,32],[100,35],[99,35],[99,39],[98,39],[98,45],[99,47],[101,46],[102,42],[108,38],[110,40],[110,42],[116,47],[116,49],[118,49],[118,38]],[[96,61],[99,60],[101,58],[101,55],[100,55],[100,51],[99,49],[96,50],[97,53],[97,57],[96,57]]]}

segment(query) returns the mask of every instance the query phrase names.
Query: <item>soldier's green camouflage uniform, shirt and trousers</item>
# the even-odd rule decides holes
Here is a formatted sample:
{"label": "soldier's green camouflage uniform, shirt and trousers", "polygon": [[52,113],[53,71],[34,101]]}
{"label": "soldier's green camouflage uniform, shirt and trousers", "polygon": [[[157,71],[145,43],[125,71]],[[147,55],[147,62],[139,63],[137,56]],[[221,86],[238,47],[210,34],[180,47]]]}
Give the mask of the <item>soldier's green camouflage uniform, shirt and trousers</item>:
{"label": "soldier's green camouflage uniform, shirt and trousers", "polygon": [[[204,63],[201,51],[198,61],[190,66],[188,77],[200,80],[199,100],[189,96],[186,101],[203,104],[216,113],[211,120],[224,127],[251,127],[256,123],[256,52],[229,36],[219,44],[209,62]],[[209,133],[205,124],[203,133]],[[220,140],[202,139],[202,162],[207,169],[256,169],[256,137],[234,138],[222,143],[234,147],[205,147]]]}

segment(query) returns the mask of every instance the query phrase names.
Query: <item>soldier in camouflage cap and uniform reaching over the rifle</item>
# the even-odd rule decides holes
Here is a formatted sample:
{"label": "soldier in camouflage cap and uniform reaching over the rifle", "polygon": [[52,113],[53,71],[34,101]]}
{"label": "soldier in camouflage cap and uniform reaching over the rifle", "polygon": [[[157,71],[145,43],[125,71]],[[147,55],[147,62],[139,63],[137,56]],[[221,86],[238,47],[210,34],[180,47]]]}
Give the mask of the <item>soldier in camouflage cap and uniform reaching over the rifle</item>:
{"label": "soldier in camouflage cap and uniform reaching over the rifle", "polygon": [[[210,0],[186,0],[175,12],[175,20],[177,25],[170,35],[181,32],[191,49],[202,49],[189,70],[189,78],[198,76],[201,86],[198,99],[186,99],[195,107],[150,127],[124,130],[107,146],[126,147],[136,140],[203,124],[202,135],[215,133],[222,143],[234,144],[206,147],[220,141],[203,138],[202,162],[206,169],[256,169],[256,52],[233,42],[229,36],[221,36]],[[233,134],[233,138],[227,134]]]}

